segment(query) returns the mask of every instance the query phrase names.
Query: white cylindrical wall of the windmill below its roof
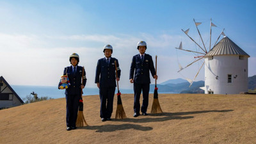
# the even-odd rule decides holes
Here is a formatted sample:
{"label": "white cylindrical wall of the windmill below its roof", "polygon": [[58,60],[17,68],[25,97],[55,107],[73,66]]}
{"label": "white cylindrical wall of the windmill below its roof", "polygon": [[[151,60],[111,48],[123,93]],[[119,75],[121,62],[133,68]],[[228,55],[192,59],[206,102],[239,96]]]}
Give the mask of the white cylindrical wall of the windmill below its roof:
{"label": "white cylindrical wall of the windmill below its roof", "polygon": [[[205,58],[205,93],[237,94],[248,91],[248,57],[238,55]],[[228,80],[228,75],[230,78]]]}

